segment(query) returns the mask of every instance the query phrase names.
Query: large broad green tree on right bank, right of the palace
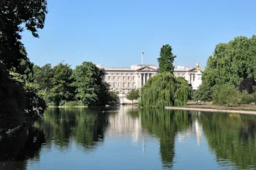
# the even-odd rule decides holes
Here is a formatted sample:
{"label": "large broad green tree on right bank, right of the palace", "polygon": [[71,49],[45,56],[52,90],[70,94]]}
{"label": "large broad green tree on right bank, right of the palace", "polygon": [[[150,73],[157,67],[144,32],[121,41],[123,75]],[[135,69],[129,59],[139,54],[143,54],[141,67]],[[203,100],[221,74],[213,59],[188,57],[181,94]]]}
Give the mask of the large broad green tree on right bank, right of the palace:
{"label": "large broad green tree on right bank, right of the palace", "polygon": [[[256,36],[235,37],[228,43],[219,43],[207,60],[207,66],[202,74],[202,87],[198,92],[202,96],[209,95],[209,88],[216,85],[232,84],[240,86],[240,90],[252,92],[253,80],[256,78]],[[250,87],[248,87],[250,80]],[[246,84],[246,85],[245,85]],[[201,92],[200,92],[201,91]],[[207,93],[204,93],[207,92]],[[204,93],[204,94],[203,94]]]}

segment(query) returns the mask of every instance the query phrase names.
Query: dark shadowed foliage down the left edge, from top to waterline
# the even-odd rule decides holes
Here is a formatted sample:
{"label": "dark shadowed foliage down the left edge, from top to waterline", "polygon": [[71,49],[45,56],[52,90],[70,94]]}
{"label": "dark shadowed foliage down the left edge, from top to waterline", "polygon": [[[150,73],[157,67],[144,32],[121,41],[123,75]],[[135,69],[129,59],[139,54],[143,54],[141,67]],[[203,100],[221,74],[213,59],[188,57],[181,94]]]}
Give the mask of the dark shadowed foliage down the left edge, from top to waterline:
{"label": "dark shadowed foliage down the left edge, from top to waterline", "polygon": [[[38,37],[44,28],[46,0],[2,0],[0,2],[0,126],[10,128],[26,118],[43,114],[45,103],[31,87],[33,64],[21,42],[26,28]],[[12,74],[10,74],[12,73]]]}

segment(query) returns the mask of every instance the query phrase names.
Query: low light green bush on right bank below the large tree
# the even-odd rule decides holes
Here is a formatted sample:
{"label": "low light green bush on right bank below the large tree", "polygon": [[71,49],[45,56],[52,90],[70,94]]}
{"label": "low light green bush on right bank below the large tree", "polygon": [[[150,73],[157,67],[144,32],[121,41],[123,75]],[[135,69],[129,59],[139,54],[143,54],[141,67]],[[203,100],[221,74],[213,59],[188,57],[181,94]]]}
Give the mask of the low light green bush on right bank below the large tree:
{"label": "low light green bush on right bank below the large tree", "polygon": [[241,93],[233,84],[217,85],[212,88],[212,102],[236,105],[241,103]]}

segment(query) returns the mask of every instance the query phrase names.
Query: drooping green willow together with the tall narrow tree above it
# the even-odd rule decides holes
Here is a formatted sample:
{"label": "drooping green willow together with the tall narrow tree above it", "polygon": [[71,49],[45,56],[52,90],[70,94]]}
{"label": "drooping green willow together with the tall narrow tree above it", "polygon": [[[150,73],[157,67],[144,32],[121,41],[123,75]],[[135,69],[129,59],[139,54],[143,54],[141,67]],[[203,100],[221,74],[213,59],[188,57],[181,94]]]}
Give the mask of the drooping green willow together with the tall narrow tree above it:
{"label": "drooping green willow together with the tall narrow tree above it", "polygon": [[183,77],[174,77],[174,56],[172,47],[161,47],[159,73],[141,87],[141,107],[184,106],[187,104],[190,88]]}

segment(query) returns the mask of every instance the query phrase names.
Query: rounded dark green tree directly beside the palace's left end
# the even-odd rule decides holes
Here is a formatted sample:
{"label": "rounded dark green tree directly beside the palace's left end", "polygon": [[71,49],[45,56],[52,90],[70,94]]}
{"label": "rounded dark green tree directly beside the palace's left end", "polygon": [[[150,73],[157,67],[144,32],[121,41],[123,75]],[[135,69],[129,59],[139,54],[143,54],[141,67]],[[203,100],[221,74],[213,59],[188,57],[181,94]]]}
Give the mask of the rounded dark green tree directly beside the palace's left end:
{"label": "rounded dark green tree directly beside the palace's left end", "polygon": [[84,105],[105,105],[107,103],[108,84],[104,81],[105,71],[92,62],[83,62],[75,67],[72,74],[75,98]]}

